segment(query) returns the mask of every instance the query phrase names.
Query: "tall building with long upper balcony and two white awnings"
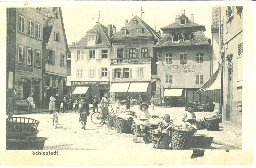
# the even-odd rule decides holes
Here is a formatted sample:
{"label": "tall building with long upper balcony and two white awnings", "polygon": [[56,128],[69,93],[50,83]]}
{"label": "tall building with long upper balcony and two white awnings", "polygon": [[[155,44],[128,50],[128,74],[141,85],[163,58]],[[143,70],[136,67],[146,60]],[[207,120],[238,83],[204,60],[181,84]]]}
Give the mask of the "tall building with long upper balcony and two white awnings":
{"label": "tall building with long upper balcony and two white awnings", "polygon": [[152,47],[159,39],[158,33],[135,15],[111,37],[110,100],[138,99],[148,102],[152,89],[151,76],[156,74],[156,54]]}

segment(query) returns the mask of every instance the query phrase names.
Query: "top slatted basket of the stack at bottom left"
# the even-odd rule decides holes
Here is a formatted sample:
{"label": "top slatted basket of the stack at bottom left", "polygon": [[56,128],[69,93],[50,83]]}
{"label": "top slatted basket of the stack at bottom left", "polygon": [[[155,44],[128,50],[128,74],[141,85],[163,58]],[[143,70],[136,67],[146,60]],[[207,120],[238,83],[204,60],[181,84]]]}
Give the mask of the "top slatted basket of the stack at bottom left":
{"label": "top slatted basket of the stack at bottom left", "polygon": [[39,121],[26,117],[11,117],[6,120],[7,132],[35,132]]}

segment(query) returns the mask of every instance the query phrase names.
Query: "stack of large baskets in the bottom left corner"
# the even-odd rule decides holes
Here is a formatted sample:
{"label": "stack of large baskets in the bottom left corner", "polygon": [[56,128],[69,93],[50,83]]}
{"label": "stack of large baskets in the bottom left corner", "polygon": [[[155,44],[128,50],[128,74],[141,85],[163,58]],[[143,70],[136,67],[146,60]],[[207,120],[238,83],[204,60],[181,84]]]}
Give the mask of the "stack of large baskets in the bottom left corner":
{"label": "stack of large baskets in the bottom left corner", "polygon": [[7,150],[43,149],[47,138],[36,137],[39,121],[26,117],[12,117],[6,120]]}

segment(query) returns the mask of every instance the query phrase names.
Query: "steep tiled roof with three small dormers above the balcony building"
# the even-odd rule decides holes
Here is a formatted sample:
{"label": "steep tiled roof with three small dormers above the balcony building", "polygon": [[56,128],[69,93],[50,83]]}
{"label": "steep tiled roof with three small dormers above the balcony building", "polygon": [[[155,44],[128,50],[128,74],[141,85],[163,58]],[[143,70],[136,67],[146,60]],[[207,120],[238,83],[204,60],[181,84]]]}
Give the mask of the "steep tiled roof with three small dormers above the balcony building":
{"label": "steep tiled roof with three small dormers above the balcony building", "polygon": [[[137,24],[132,25],[132,20],[136,19]],[[156,31],[151,28],[147,23],[145,23],[143,20],[141,20],[137,15],[135,15],[132,20],[130,20],[124,28],[128,30],[128,34],[122,35],[122,31],[117,32],[114,36],[111,37],[111,39],[116,39],[116,38],[126,38],[126,37],[148,37],[148,36],[153,36],[156,39],[159,38],[159,35],[156,33]],[[144,32],[142,34],[137,33],[137,28],[142,27],[144,29]]]}

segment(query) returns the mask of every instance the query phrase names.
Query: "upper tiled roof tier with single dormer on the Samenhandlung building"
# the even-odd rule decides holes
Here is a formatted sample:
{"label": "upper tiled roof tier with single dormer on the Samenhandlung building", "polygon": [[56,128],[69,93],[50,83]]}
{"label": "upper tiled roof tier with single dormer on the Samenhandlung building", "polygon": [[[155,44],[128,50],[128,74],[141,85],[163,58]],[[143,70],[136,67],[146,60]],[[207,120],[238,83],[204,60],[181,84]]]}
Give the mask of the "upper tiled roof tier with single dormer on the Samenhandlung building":
{"label": "upper tiled roof tier with single dormer on the Samenhandlung building", "polygon": [[[180,18],[182,17],[183,15],[180,16]],[[205,30],[205,27],[204,25],[199,25],[197,24],[196,22],[188,19],[187,20],[187,23],[186,24],[182,24],[180,25],[180,20],[176,20],[175,22],[161,28],[161,30],[164,31],[164,29],[172,29],[172,28],[191,28],[191,27],[202,27],[203,30]]]}

